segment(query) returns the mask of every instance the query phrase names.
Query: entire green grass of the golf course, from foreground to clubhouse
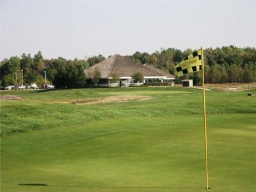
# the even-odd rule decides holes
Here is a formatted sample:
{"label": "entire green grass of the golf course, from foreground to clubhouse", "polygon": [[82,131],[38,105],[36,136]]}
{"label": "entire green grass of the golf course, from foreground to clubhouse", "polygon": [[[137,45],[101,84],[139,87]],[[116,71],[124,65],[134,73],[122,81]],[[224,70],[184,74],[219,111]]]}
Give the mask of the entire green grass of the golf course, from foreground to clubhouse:
{"label": "entire green grass of the golf course, from foreground to clubhouse", "polygon": [[[256,90],[250,90],[256,95]],[[256,97],[182,87],[11,90],[1,100],[1,191],[255,191]],[[75,105],[68,100],[146,100]],[[65,101],[65,102],[64,102]],[[63,103],[62,103],[63,102]]]}

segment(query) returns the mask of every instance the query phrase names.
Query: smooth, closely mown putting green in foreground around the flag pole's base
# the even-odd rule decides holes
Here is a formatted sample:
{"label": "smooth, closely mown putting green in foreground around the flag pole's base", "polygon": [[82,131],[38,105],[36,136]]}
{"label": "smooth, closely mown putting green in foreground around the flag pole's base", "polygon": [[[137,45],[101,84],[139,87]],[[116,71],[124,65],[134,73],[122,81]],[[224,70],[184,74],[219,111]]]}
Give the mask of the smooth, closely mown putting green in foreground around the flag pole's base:
{"label": "smooth, closely mown putting green in foreground around the flag pole's base", "polygon": [[[253,191],[255,115],[227,117],[209,117],[212,190]],[[204,191],[202,118],[109,119],[17,134],[2,139],[1,162],[2,191]]]}

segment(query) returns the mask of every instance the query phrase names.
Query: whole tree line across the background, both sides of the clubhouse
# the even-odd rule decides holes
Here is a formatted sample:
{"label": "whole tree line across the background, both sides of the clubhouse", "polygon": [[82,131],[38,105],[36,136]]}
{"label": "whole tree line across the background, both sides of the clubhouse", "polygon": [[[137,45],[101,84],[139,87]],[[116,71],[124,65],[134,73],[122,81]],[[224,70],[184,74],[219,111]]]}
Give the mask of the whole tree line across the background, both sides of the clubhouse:
{"label": "whole tree line across the background, both sides of the clubhouse", "polygon": [[[154,53],[135,52],[126,55],[138,64],[152,64],[170,74],[176,74],[175,65],[194,50],[168,48]],[[0,62],[1,86],[21,84],[23,70],[24,84],[52,83],[55,87],[84,87],[86,75],[84,71],[98,62],[106,59],[103,55],[91,56],[86,59],[45,59],[39,51],[34,56],[23,53],[21,57],[11,56]],[[251,83],[256,81],[256,49],[223,46],[222,48],[204,49],[205,82],[206,83]],[[46,82],[45,82],[46,75]],[[17,77],[17,78],[16,78]],[[201,72],[187,74],[184,78],[193,78],[195,84],[201,83]],[[17,82],[17,83],[16,83]]]}

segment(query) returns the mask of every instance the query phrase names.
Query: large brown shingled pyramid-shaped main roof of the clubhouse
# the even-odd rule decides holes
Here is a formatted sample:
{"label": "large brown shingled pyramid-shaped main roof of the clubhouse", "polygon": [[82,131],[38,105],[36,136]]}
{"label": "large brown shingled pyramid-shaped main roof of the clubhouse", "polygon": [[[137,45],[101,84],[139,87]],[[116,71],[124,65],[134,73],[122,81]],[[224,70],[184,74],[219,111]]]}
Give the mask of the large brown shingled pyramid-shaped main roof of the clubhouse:
{"label": "large brown shingled pyramid-shaped main roof of the clubhouse", "polygon": [[101,71],[102,78],[111,77],[113,74],[117,74],[120,77],[132,77],[132,75],[137,72],[142,73],[144,77],[166,76],[163,75],[163,73],[159,73],[156,70],[137,64],[136,62],[130,61],[130,59],[118,54],[115,54],[85,70],[86,76],[89,77],[89,73],[92,73],[96,67]]}

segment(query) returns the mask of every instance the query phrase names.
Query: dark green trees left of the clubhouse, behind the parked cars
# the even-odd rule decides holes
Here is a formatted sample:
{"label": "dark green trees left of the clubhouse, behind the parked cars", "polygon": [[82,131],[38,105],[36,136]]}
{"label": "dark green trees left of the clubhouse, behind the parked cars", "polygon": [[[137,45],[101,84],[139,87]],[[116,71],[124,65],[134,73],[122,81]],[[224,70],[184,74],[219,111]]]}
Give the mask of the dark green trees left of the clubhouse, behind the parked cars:
{"label": "dark green trees left of the clubhouse, behind the parked cars", "polygon": [[21,70],[23,70],[25,85],[36,83],[42,86],[42,84],[52,83],[58,88],[84,87],[86,84],[84,71],[88,67],[88,62],[83,59],[67,60],[61,57],[44,59],[40,51],[33,57],[23,53],[21,58],[11,56],[1,61],[1,86],[20,85]]}

